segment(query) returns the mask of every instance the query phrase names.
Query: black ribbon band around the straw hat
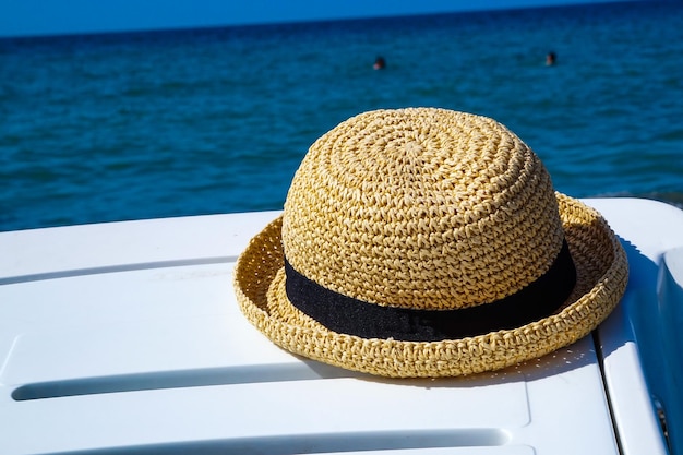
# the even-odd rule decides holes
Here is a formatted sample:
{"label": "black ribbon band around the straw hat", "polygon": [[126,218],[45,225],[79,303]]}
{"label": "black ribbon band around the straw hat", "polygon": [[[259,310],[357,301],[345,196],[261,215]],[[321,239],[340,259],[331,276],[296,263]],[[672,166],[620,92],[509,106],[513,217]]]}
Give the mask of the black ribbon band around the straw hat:
{"label": "black ribbon band around the straw hat", "polygon": [[576,283],[566,240],[550,270],[536,282],[495,302],[456,310],[383,307],[354,299],[301,275],[286,258],[285,273],[289,301],[331,331],[404,342],[457,339],[519,327],[555,312]]}

